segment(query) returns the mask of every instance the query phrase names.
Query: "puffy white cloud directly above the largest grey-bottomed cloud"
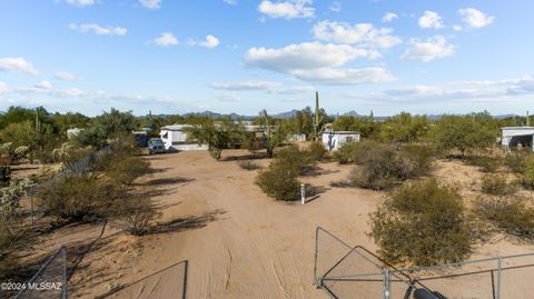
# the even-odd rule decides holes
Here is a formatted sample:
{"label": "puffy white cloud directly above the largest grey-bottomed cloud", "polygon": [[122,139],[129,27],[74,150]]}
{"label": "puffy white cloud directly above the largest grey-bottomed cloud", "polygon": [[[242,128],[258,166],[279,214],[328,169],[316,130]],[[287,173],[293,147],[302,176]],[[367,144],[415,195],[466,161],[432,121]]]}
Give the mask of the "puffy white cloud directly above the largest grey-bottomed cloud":
{"label": "puffy white cloud directly above the largest grey-bottomed cloud", "polygon": [[370,23],[350,26],[345,22],[320,21],[313,28],[316,39],[366,47],[392,48],[402,42],[400,38],[392,36],[389,28],[375,28]]}

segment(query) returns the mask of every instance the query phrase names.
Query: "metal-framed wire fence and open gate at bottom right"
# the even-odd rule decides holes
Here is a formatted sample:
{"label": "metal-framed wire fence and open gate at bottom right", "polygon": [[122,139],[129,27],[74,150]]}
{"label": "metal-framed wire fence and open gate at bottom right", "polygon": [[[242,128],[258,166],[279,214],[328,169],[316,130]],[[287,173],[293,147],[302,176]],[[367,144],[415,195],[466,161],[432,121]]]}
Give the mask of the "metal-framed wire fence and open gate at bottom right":
{"label": "metal-framed wire fence and open gate at bottom right", "polygon": [[336,299],[417,299],[416,290],[436,299],[527,299],[534,298],[534,253],[396,269],[319,227],[314,280]]}

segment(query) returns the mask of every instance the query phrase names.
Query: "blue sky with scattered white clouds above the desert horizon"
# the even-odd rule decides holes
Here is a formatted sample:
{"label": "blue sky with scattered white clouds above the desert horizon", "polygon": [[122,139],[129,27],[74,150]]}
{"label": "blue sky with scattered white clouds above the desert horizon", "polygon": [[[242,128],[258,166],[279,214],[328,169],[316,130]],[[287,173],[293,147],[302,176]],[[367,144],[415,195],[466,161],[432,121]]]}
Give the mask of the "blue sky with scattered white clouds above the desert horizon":
{"label": "blue sky with scattered white clouds above the desert horizon", "polygon": [[0,0],[0,111],[524,114],[534,1]]}

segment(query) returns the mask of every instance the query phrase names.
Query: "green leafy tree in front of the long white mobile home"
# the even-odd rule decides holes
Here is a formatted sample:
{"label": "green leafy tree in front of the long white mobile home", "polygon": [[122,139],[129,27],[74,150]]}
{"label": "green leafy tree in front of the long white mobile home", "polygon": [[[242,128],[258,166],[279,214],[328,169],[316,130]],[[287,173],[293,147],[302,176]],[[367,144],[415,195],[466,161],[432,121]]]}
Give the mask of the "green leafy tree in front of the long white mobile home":
{"label": "green leafy tree in front of the long white mobile home", "polygon": [[234,121],[229,117],[217,120],[205,118],[200,123],[186,128],[186,133],[189,141],[207,144],[211,157],[220,160],[224,149],[243,140],[245,128],[240,121]]}

